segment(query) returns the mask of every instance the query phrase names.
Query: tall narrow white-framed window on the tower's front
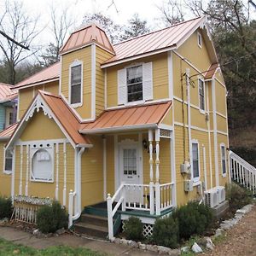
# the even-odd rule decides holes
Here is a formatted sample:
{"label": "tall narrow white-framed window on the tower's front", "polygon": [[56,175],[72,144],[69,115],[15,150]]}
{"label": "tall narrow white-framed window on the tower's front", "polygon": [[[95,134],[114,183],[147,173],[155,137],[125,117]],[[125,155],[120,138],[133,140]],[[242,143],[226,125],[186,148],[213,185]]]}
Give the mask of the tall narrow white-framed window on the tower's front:
{"label": "tall narrow white-framed window on the tower's front", "polygon": [[70,67],[70,104],[82,103],[82,63]]}

